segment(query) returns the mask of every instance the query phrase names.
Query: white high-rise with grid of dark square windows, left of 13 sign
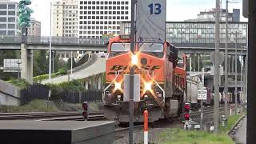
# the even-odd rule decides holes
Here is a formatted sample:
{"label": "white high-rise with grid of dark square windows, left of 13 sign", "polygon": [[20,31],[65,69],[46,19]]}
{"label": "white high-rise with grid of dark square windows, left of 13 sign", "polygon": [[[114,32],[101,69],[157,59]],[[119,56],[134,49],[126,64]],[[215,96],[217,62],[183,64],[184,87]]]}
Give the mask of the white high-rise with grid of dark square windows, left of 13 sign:
{"label": "white high-rise with grid of dark square windows, left of 13 sign", "polygon": [[119,34],[125,21],[130,21],[130,0],[78,0],[79,38]]}

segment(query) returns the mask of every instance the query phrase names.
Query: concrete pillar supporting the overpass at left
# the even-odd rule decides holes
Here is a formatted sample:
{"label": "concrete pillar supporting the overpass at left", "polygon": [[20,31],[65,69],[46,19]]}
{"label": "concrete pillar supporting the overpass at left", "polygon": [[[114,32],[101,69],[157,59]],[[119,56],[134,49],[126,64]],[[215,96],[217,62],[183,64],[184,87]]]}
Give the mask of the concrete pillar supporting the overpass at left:
{"label": "concrete pillar supporting the overpass at left", "polygon": [[27,50],[26,44],[21,44],[22,78],[33,83],[33,50]]}

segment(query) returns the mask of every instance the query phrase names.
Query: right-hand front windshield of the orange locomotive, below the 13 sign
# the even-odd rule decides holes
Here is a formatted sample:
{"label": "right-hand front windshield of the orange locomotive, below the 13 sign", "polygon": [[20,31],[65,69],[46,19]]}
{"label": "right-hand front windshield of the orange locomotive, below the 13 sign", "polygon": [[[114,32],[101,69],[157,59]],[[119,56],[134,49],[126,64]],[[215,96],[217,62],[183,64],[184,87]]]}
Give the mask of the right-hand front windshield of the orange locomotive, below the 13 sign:
{"label": "right-hand front windshield of the orange locomotive, below the 13 sign", "polygon": [[150,54],[158,58],[163,57],[163,44],[159,43],[139,43],[139,51]]}

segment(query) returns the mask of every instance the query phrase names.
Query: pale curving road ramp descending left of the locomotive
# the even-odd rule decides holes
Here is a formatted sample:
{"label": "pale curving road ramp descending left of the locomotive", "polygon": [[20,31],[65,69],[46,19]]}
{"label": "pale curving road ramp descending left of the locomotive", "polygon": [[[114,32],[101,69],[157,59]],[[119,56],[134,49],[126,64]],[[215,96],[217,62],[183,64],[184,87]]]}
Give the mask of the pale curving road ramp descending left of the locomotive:
{"label": "pale curving road ramp descending left of the locomotive", "polygon": [[[106,71],[106,58],[100,58],[97,54],[97,58],[95,62],[93,62],[92,65],[86,66],[82,70],[78,70],[76,72],[73,72],[73,74],[70,74],[70,80],[73,79],[81,79],[81,78],[87,78],[94,74],[100,74]],[[51,78],[50,83],[61,83],[61,82],[67,82],[68,81],[68,75],[62,75],[60,77]],[[46,84],[48,83],[48,79],[43,80],[41,83]]]}

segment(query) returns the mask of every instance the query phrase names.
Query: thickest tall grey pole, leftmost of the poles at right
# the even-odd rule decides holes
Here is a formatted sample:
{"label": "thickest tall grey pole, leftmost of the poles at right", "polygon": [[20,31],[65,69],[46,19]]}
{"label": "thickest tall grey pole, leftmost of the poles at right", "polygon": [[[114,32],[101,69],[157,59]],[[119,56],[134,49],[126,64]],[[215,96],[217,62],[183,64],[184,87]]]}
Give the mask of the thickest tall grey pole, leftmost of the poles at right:
{"label": "thickest tall grey pole, leftmost of the poles at right", "polygon": [[219,122],[219,0],[216,0],[216,18],[215,18],[215,54],[214,54],[214,134],[218,133]]}

